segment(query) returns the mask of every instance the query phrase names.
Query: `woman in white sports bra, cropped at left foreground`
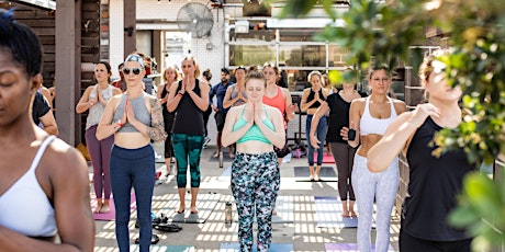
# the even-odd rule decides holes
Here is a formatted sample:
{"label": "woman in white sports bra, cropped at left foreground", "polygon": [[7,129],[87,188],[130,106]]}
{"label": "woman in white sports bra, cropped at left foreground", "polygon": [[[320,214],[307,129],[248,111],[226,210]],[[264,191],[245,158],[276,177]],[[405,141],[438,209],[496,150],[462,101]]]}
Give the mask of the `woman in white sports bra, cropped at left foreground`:
{"label": "woman in white sports bra, cropped at left foreground", "polygon": [[33,123],[42,47],[12,16],[0,9],[0,250],[93,251],[88,165]]}

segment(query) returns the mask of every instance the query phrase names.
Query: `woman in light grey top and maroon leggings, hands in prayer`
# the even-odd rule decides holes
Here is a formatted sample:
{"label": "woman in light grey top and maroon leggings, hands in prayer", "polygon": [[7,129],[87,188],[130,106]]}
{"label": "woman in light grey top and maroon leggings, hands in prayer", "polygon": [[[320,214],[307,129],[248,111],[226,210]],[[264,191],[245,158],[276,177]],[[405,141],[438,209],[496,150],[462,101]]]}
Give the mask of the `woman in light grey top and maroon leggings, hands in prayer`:
{"label": "woman in light grey top and maroon leggings, hands in prayer", "polygon": [[[79,114],[89,111],[86,118],[86,145],[93,164],[93,187],[97,195],[97,208],[93,213],[109,213],[109,199],[111,198],[110,157],[114,144],[114,136],[103,140],[97,139],[97,127],[102,117],[105,105],[112,96],[121,94],[121,90],[111,84],[111,65],[105,61],[94,67],[94,79],[97,84],[90,85],[76,105]],[[103,198],[103,199],[102,199]]]}

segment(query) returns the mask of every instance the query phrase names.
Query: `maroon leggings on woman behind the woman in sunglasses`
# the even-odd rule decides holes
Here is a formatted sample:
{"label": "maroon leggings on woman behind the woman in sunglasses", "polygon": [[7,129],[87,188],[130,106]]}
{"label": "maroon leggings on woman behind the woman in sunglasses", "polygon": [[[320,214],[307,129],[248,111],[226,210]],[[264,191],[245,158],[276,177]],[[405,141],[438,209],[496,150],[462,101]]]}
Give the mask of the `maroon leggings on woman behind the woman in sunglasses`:
{"label": "maroon leggings on woman behind the woman in sunglasses", "polygon": [[88,152],[93,164],[93,188],[97,198],[111,198],[111,149],[114,145],[114,135],[99,140],[97,139],[97,127],[93,125],[86,129],[85,138]]}

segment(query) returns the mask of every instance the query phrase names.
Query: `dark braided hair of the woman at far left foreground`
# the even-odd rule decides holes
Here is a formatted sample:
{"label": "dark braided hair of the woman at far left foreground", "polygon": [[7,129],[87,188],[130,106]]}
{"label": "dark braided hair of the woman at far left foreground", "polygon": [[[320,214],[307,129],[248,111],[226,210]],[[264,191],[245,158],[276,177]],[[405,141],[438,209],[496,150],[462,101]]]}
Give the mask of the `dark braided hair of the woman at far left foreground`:
{"label": "dark braided hair of the woman at far left foreground", "polygon": [[13,12],[14,9],[0,9],[0,49],[10,51],[27,77],[34,77],[41,73],[41,42],[30,27],[13,20]]}

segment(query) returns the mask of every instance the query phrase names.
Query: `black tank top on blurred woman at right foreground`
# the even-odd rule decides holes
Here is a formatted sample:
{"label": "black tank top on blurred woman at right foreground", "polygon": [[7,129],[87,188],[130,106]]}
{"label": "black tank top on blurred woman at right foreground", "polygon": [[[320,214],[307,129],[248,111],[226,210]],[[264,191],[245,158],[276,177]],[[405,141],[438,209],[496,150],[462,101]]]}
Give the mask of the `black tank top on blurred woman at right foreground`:
{"label": "black tank top on blurred woman at right foreground", "polygon": [[470,238],[464,230],[447,224],[447,217],[461,192],[463,176],[473,171],[462,149],[439,158],[430,142],[441,127],[431,117],[417,129],[407,150],[409,183],[402,210],[402,229],[411,236],[433,241],[456,241]]}

